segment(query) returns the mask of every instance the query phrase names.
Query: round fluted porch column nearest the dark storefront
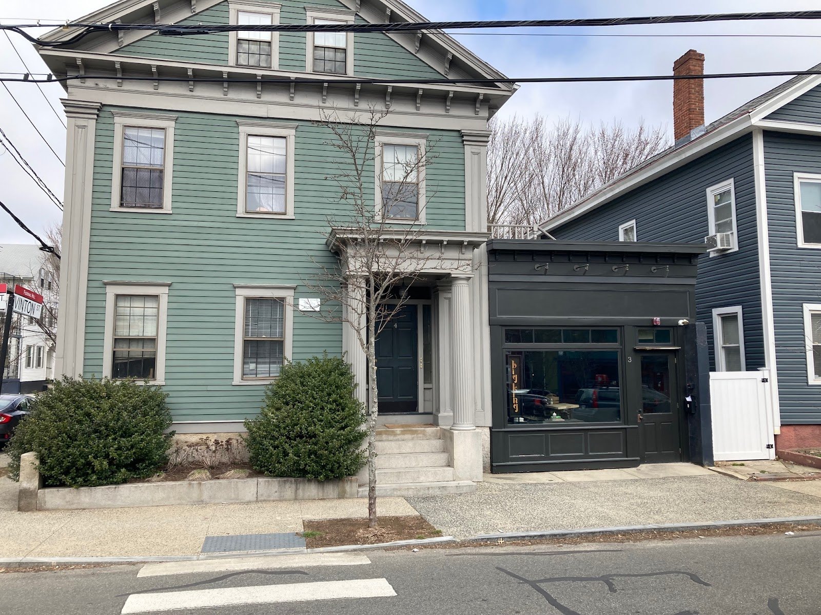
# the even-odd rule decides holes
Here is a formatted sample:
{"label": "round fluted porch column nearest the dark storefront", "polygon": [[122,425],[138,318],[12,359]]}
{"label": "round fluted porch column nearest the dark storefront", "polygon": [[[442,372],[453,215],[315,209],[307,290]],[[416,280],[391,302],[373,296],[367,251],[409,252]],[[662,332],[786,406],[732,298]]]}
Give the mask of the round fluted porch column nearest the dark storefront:
{"label": "round fluted porch column nearest the dark storefront", "polygon": [[452,276],[451,330],[453,332],[453,425],[452,430],[475,430],[475,408],[472,399],[473,380],[473,344],[471,339],[471,321],[473,310],[470,308],[470,277]]}

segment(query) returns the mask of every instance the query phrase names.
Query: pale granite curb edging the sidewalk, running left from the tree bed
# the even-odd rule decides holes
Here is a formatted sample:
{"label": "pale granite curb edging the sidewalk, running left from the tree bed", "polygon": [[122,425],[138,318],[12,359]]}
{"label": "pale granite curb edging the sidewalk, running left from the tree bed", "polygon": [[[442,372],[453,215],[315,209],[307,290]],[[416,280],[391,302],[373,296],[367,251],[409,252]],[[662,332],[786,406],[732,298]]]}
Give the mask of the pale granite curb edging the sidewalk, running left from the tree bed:
{"label": "pale granite curb edging the sidewalk, running left from the tree bed", "polygon": [[0,558],[0,568],[56,567],[96,564],[137,564],[157,562],[201,562],[210,559],[253,559],[272,555],[294,555],[304,553],[341,553],[345,551],[363,551],[368,549],[392,549],[393,547],[424,546],[425,544],[456,543],[453,536],[438,536],[424,540],[397,540],[380,544],[347,544],[339,547],[320,547],[319,549],[279,549],[277,551],[253,551],[249,553],[202,553],[200,555],[169,555],[167,557],[133,557],[133,558]]}

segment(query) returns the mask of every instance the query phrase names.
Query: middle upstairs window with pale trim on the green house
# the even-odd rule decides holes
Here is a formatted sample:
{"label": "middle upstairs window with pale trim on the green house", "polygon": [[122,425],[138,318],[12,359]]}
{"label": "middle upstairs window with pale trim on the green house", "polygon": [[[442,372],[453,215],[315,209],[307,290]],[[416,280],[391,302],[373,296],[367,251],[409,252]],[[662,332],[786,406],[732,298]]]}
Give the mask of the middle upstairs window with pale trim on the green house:
{"label": "middle upstairs window with pale trim on the green house", "polygon": [[237,216],[293,218],[296,125],[237,124],[240,127]]}

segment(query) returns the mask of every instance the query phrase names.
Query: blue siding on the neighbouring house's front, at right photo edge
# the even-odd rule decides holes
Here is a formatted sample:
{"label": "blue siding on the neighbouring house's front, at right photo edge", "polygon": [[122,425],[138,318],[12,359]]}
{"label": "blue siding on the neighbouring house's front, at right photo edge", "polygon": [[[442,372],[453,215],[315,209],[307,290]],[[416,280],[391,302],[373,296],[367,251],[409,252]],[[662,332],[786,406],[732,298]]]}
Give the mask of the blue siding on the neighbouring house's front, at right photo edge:
{"label": "blue siding on the neighbouring house's front, at right photo edge", "polygon": [[821,303],[821,249],[798,248],[794,173],[821,173],[821,139],[764,133],[770,271],[782,422],[821,423],[821,385],[807,383],[803,303]]}

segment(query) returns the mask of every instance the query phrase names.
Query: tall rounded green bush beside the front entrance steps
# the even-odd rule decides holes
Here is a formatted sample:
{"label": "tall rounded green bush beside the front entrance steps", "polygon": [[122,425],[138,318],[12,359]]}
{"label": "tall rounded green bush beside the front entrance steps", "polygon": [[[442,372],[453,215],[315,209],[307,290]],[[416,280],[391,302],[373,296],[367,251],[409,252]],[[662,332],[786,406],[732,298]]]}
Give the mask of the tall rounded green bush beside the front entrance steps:
{"label": "tall rounded green bush beside the front entrance steps", "polygon": [[360,450],[365,414],[354,390],[354,376],[342,358],[326,353],[283,365],[266,389],[259,417],[245,421],[254,469],[319,481],[354,475],[365,465]]}

